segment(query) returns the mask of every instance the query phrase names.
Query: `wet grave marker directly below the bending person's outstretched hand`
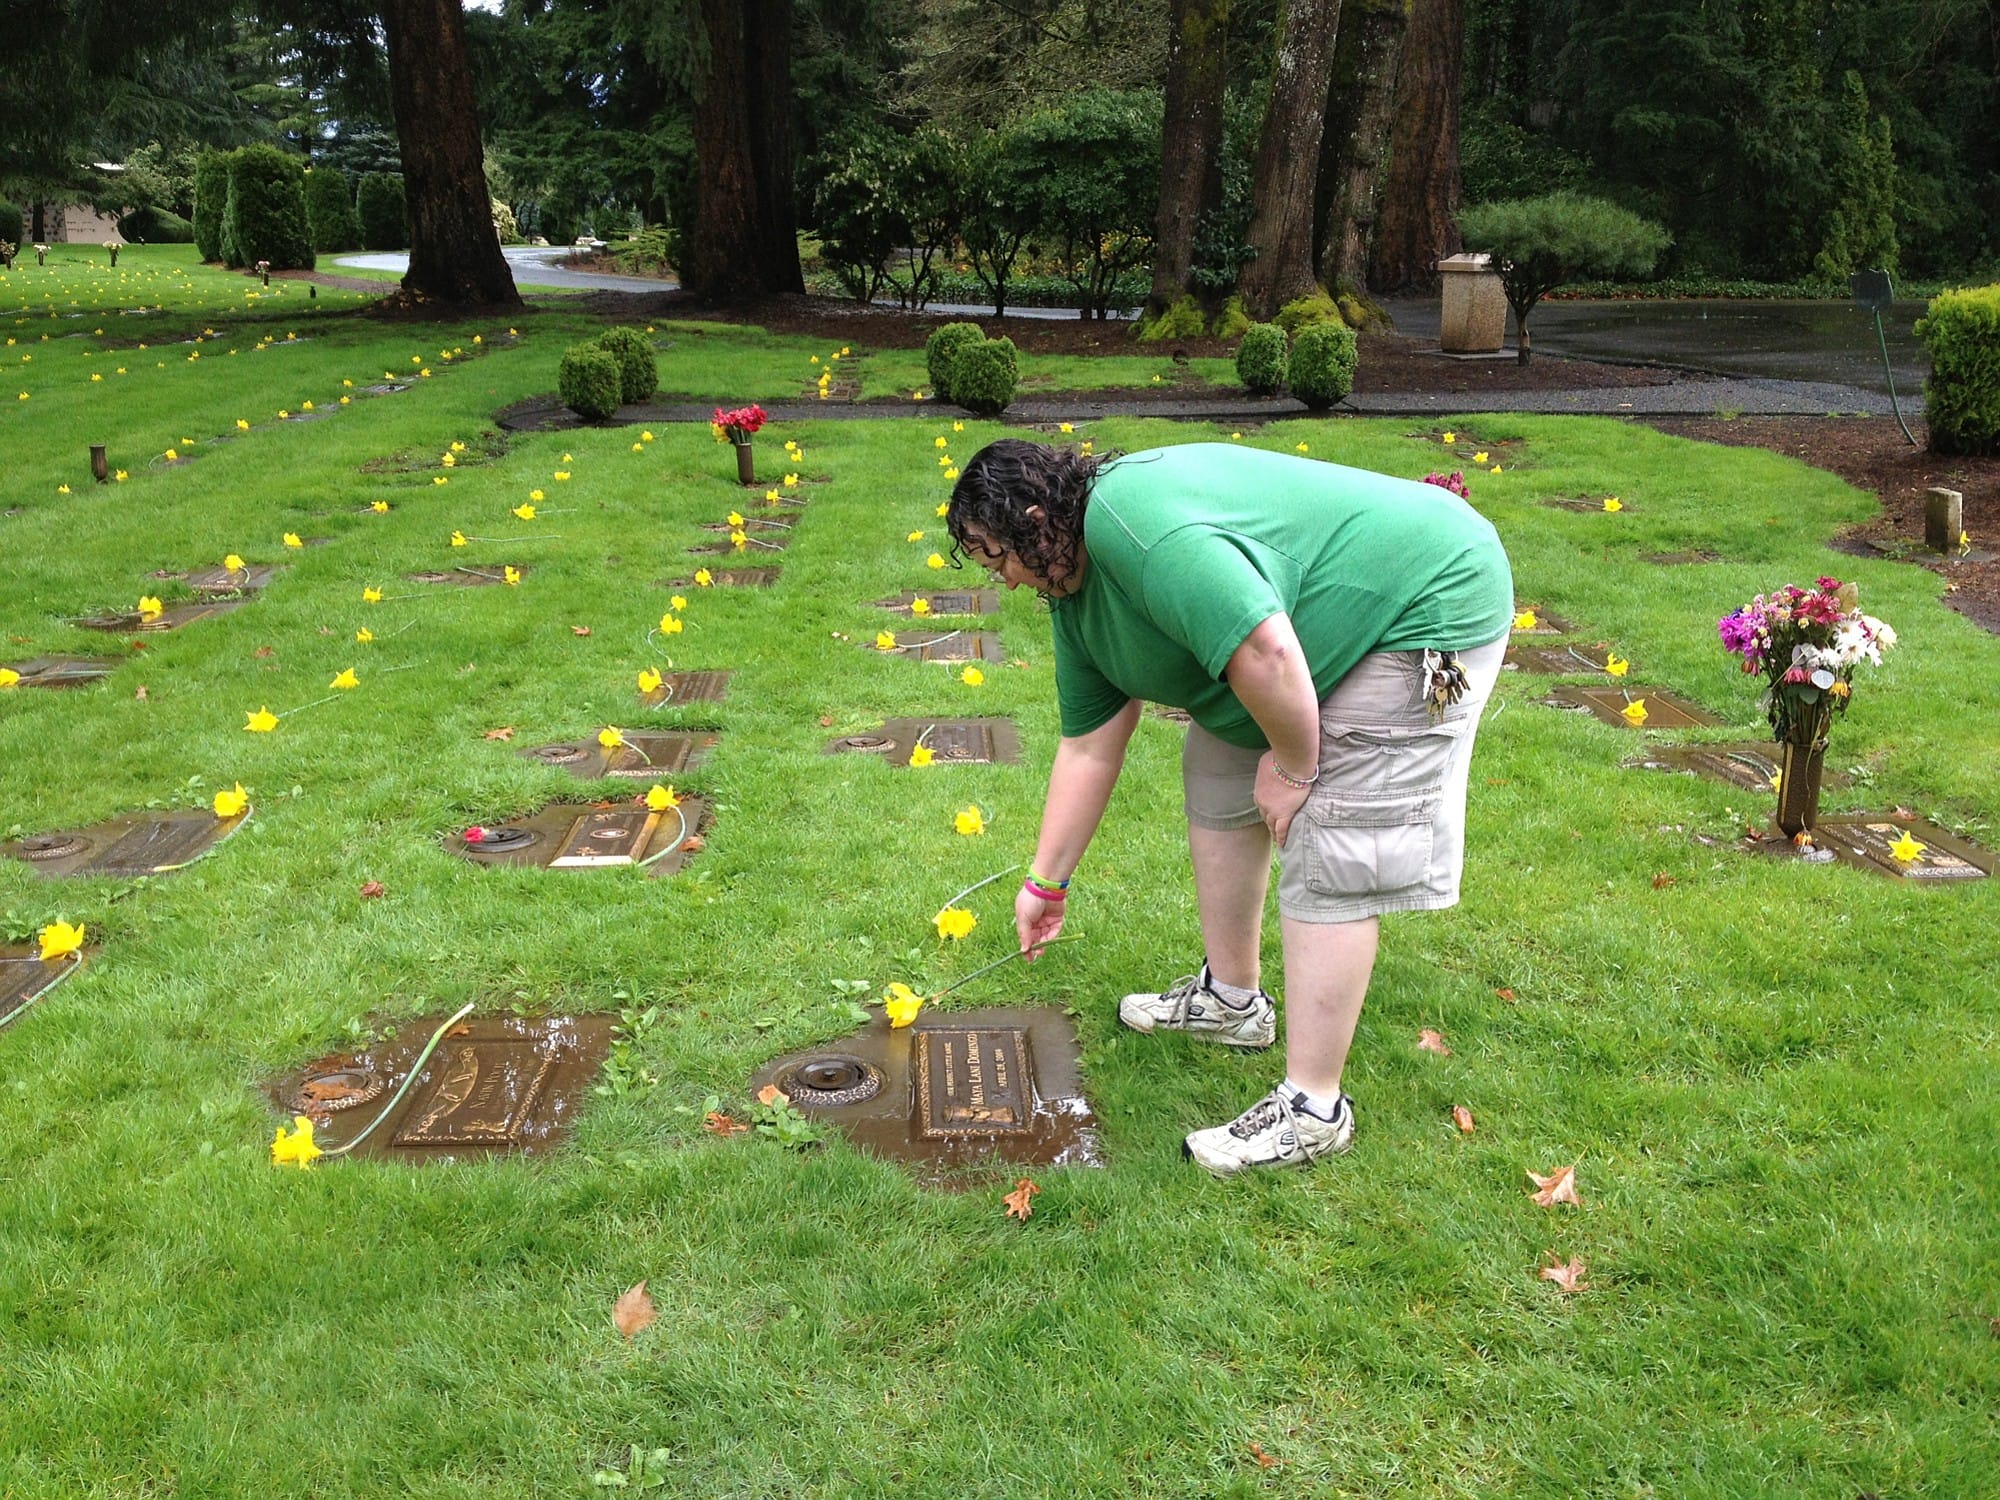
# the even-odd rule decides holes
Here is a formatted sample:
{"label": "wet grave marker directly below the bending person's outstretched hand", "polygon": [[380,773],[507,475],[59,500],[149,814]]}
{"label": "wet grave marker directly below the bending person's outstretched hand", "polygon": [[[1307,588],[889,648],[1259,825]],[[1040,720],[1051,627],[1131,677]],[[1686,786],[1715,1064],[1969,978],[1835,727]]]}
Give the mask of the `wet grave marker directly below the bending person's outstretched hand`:
{"label": "wet grave marker directly below the bending person's outstretched hand", "polygon": [[764,1084],[890,1160],[1102,1164],[1076,1030],[1052,1006],[926,1012],[908,1030],[876,1016],[836,1046],[766,1064],[750,1088]]}

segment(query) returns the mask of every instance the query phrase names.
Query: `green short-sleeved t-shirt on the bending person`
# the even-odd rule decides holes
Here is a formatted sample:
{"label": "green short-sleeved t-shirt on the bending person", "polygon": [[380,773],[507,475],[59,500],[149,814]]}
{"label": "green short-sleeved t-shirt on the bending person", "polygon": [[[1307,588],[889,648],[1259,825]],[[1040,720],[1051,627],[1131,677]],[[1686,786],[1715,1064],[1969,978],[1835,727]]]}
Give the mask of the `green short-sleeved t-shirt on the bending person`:
{"label": "green short-sleeved t-shirt on the bending person", "polygon": [[1084,558],[1084,586],[1052,608],[1072,736],[1150,698],[1262,748],[1222,674],[1278,612],[1322,698],[1368,652],[1484,646],[1514,616],[1500,536],[1450,490],[1222,442],[1106,464]]}

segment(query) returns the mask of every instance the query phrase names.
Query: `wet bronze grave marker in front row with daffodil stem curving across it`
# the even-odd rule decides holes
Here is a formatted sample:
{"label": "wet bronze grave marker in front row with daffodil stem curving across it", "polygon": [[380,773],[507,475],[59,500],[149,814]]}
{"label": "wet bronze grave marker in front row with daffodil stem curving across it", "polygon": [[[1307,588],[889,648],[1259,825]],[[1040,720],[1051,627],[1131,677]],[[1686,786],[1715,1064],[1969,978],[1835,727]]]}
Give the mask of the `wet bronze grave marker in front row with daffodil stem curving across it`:
{"label": "wet bronze grave marker in front row with daffodil stem curving across it", "polygon": [[402,1022],[396,1038],[336,1052],[268,1086],[304,1114],[326,1148],[406,1162],[534,1154],[554,1146],[610,1050],[612,1016],[472,1016],[454,1026],[398,1100],[410,1068],[444,1022]]}

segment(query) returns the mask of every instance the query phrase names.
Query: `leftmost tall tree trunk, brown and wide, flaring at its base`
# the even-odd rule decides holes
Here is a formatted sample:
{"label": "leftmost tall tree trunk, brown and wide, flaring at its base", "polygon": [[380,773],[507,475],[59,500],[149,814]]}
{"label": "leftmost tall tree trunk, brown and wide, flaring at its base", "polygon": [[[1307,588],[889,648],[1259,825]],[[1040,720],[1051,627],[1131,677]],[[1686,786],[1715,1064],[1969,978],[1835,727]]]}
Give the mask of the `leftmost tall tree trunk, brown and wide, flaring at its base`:
{"label": "leftmost tall tree trunk, brown and wide, flaring at its base", "polygon": [[460,0],[382,0],[388,90],[410,208],[410,300],[518,308],[500,254]]}

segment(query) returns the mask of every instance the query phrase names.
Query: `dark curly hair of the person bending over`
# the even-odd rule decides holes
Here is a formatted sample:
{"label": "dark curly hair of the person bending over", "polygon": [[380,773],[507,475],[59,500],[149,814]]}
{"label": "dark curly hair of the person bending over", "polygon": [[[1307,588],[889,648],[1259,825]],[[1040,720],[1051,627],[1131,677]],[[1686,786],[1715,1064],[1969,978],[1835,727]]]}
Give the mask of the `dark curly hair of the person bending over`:
{"label": "dark curly hair of the person bending over", "polygon": [[[1000,438],[972,454],[952,486],[944,526],[952,534],[952,566],[962,568],[968,538],[1006,548],[1030,572],[1062,584],[1076,572],[1084,542],[1084,508],[1104,460],[1022,438]],[[1028,514],[1040,506],[1042,516]]]}

